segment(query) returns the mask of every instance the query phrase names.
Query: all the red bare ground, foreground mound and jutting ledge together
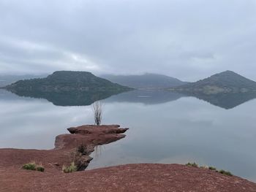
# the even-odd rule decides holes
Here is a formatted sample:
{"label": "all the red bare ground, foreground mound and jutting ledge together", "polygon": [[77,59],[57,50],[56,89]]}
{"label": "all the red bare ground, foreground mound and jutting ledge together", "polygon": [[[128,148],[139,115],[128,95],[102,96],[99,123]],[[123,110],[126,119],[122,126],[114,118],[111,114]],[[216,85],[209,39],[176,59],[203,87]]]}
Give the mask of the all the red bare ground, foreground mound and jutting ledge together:
{"label": "all the red bare ground, foreground mound and jutting ledge together", "polygon": [[[0,191],[246,191],[256,184],[236,176],[178,164],[129,164],[65,174],[80,144],[94,147],[121,139],[118,126],[82,126],[56,137],[56,149],[0,149]],[[126,130],[125,130],[126,131]],[[86,156],[89,158],[89,156]],[[29,161],[42,162],[45,172],[20,169]]]}

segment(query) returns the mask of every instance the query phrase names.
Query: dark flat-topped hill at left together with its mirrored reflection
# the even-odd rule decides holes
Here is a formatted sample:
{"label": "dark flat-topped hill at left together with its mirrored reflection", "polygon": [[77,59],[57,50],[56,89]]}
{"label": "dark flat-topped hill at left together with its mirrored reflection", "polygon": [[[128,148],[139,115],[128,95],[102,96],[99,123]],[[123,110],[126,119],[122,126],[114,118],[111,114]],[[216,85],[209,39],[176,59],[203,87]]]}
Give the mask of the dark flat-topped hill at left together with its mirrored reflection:
{"label": "dark flat-topped hill at left together with its mirrored reflection", "polygon": [[90,72],[69,71],[54,72],[45,78],[19,80],[5,89],[18,96],[47,99],[61,106],[89,105],[99,99],[132,90]]}

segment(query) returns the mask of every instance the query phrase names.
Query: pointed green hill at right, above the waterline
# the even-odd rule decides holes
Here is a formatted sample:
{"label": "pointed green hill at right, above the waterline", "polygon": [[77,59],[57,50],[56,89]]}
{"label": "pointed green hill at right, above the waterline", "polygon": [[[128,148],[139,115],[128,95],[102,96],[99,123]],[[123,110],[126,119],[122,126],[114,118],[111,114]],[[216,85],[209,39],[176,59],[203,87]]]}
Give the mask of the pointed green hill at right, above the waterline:
{"label": "pointed green hill at right, above the waterline", "polygon": [[256,91],[256,82],[247,79],[235,72],[226,71],[219,74],[214,74],[204,80],[191,82],[187,85],[177,86],[172,88],[173,91],[182,93],[239,93]]}

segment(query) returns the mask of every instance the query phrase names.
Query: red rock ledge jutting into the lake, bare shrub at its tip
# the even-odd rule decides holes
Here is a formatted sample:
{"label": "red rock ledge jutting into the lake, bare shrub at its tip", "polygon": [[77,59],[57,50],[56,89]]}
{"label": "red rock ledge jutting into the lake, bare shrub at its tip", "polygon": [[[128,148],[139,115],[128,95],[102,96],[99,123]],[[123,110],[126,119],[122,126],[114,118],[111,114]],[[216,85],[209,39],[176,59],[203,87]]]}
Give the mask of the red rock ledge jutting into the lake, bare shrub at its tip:
{"label": "red rock ledge jutting into the lake, bare shrub at its tip", "polygon": [[60,172],[63,165],[74,161],[78,170],[82,171],[92,160],[89,155],[94,151],[95,146],[116,142],[125,137],[120,133],[124,133],[128,128],[119,127],[113,125],[69,128],[73,130],[70,131],[72,134],[57,136],[53,150],[0,149],[0,171],[1,168],[8,167],[20,169],[23,164],[30,161],[42,163],[46,172]]}

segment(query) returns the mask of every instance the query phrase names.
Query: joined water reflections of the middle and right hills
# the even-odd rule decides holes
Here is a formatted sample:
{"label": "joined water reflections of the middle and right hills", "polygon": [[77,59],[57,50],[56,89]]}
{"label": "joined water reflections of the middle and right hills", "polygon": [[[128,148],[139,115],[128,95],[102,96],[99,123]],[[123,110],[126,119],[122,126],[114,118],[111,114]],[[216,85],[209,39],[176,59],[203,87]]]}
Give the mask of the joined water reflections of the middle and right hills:
{"label": "joined water reflections of the middle and right hills", "polygon": [[135,90],[126,93],[121,93],[116,96],[111,96],[106,99],[106,102],[132,102],[143,104],[161,104],[169,101],[176,101],[182,97],[193,96],[197,99],[207,101],[218,107],[230,110],[246,101],[256,98],[256,92],[245,93],[218,93],[218,94],[204,94],[204,93],[176,93],[171,91],[146,91]]}

